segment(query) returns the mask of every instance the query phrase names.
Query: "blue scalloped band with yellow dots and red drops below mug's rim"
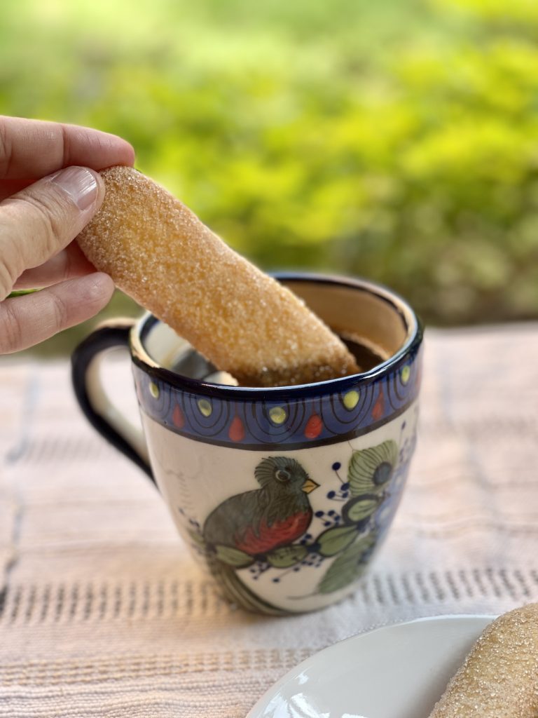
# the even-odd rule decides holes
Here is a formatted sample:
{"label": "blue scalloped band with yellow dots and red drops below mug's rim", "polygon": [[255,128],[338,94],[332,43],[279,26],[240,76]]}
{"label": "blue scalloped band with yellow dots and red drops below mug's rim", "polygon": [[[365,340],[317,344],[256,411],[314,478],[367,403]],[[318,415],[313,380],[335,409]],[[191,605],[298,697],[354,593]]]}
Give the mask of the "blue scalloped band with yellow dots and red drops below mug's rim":
{"label": "blue scalloped band with yellow dots and red drops below mug's rim", "polygon": [[420,343],[397,363],[372,376],[349,377],[339,391],[331,383],[296,392],[235,392],[201,384],[181,388],[181,376],[133,364],[136,393],[145,414],[172,432],[197,441],[242,449],[291,450],[353,439],[402,414],[418,396]]}

